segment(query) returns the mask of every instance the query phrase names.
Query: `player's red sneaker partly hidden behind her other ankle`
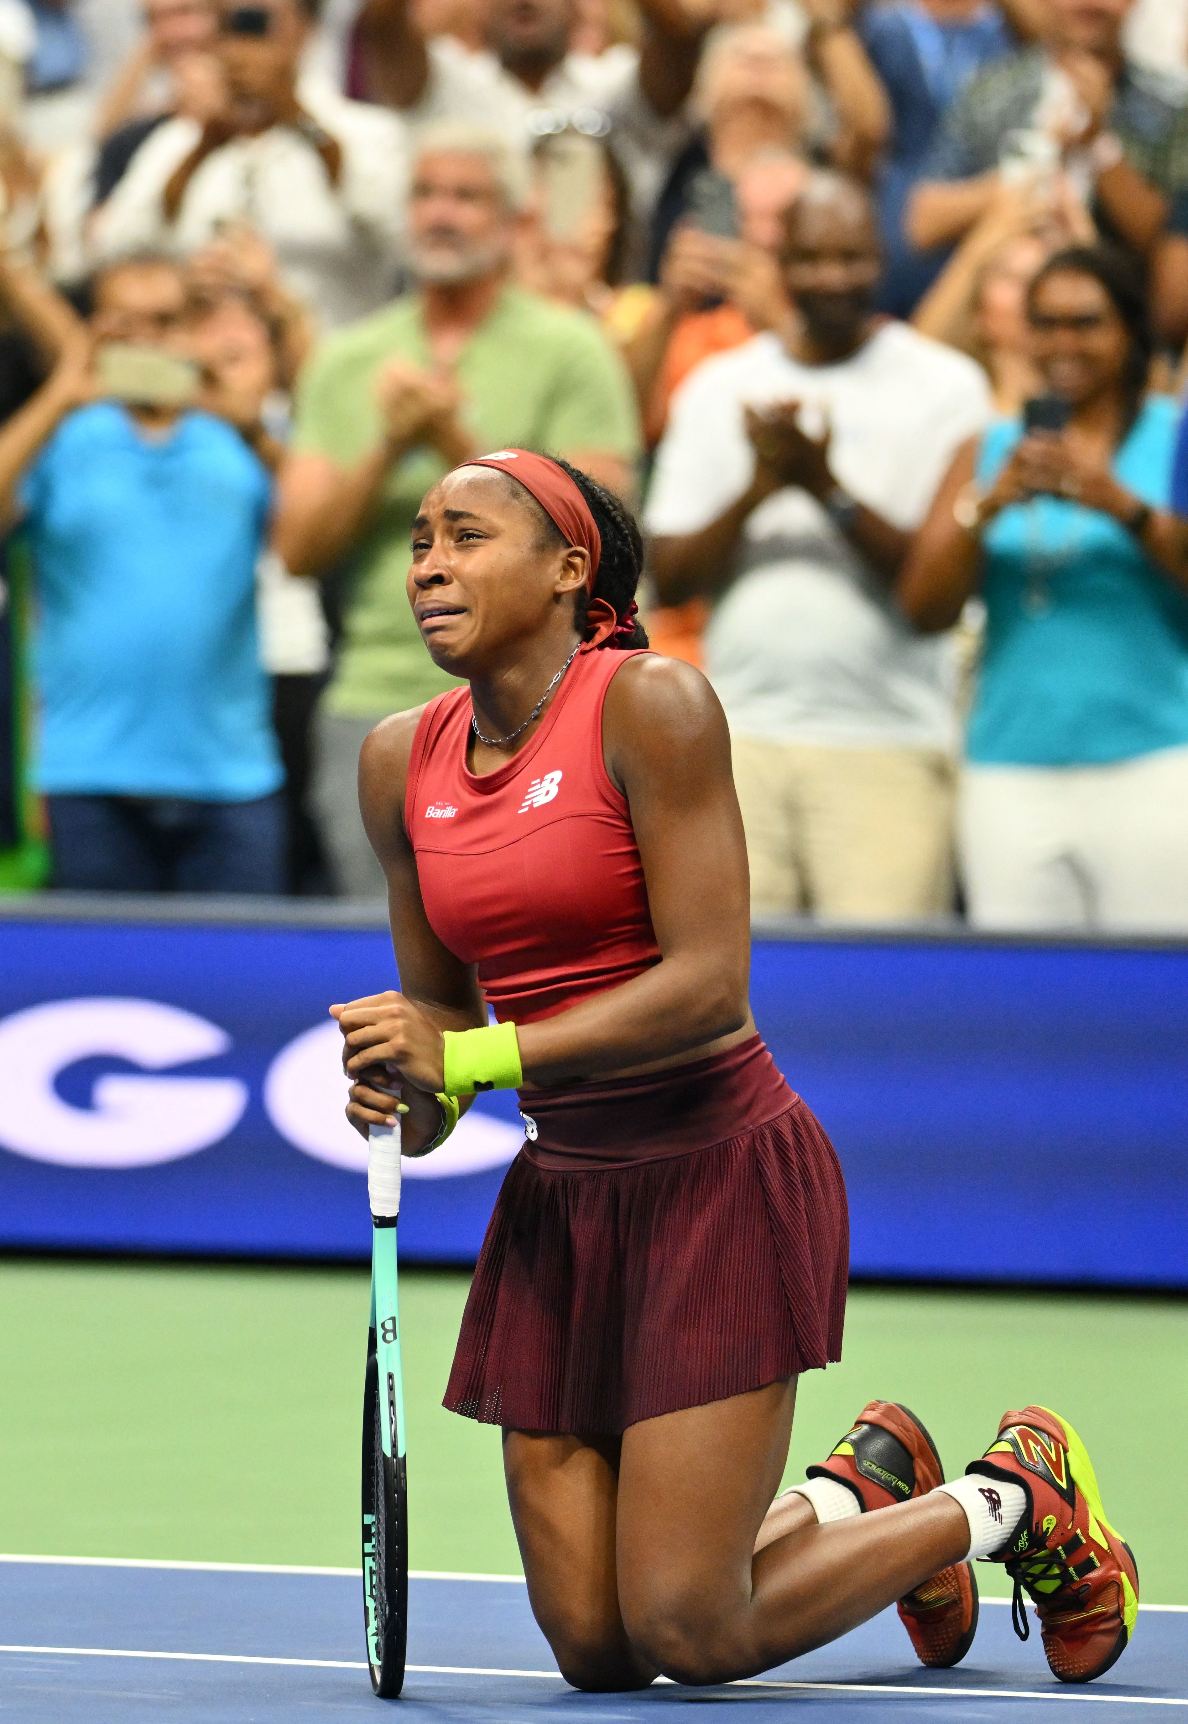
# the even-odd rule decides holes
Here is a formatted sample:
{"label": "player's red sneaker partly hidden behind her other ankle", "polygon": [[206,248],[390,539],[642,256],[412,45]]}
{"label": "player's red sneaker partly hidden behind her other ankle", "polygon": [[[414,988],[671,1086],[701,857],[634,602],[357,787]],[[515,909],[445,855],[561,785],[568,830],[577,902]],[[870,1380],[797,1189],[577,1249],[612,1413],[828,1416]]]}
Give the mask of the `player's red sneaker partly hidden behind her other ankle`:
{"label": "player's red sneaker partly hidden behind her other ankle", "polygon": [[[945,1469],[914,1412],[897,1402],[867,1402],[829,1459],[809,1467],[809,1477],[836,1479],[869,1512],[924,1496],[945,1483]],[[967,1562],[941,1569],[897,1608],[921,1664],[947,1671],[960,1664],[978,1633],[974,1571]]]}

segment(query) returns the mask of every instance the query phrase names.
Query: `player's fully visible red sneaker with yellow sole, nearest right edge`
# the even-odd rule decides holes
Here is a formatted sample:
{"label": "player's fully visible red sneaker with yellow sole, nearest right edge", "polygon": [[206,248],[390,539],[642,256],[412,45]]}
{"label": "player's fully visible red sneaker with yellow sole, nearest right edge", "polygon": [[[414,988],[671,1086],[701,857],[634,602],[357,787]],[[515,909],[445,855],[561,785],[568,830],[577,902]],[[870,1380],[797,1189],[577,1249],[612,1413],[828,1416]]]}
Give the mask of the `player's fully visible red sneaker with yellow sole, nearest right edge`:
{"label": "player's fully visible red sneaker with yellow sole, nearest right edge", "polygon": [[1047,1407],[1007,1412],[998,1438],[966,1472],[1021,1484],[1028,1507],[1002,1552],[1016,1583],[1012,1621],[1031,1633],[1026,1591],[1040,1617],[1048,1667],[1062,1683],[1093,1683],[1135,1633],[1138,1569],[1102,1510],[1085,1443]]}

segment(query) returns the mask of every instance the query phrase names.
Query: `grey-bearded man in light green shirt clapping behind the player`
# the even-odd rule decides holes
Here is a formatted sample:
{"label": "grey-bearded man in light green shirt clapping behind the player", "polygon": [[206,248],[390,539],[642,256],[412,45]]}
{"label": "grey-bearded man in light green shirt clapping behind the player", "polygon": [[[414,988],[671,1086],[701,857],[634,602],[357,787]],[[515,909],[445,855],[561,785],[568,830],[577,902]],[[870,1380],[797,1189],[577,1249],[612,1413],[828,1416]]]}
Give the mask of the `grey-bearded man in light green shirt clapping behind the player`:
{"label": "grey-bearded man in light green shirt clapping behind the player", "polygon": [[367,731],[453,679],[405,597],[421,498],[469,455],[519,445],[629,491],[640,428],[598,324],[509,284],[522,164],[493,133],[426,129],[409,202],[417,291],[333,334],[305,369],[281,474],[278,548],[295,574],[352,565],[319,715],[316,803],[341,891],[385,891],[355,800]]}

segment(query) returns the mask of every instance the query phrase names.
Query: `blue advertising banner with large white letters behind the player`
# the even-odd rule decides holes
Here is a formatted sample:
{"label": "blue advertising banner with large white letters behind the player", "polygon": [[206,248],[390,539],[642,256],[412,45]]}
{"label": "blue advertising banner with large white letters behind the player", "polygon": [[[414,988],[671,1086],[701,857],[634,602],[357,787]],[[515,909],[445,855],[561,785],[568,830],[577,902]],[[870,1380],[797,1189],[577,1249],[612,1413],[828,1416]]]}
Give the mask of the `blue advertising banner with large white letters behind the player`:
{"label": "blue advertising banner with large white letters behind the player", "polygon": [[[0,921],[0,1248],[366,1257],[326,1009],[390,986],[378,928]],[[1188,948],[757,938],[752,996],[855,1276],[1188,1286]],[[474,1260],[521,1141],[486,1095],[405,1162],[405,1260]]]}

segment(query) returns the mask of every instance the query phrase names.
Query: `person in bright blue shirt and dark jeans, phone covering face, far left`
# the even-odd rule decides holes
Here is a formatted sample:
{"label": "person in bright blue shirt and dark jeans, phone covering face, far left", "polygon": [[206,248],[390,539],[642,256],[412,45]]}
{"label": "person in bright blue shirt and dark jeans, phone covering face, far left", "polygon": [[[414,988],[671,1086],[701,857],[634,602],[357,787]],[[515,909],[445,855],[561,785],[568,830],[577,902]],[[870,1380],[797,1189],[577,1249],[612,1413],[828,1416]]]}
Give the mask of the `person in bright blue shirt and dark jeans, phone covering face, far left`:
{"label": "person in bright blue shirt and dark jeans, phone covering face, far left", "polygon": [[[95,347],[184,341],[176,264],[95,284]],[[267,467],[228,419],[103,398],[67,350],[0,431],[0,512],[36,591],[34,783],[53,884],[283,890],[283,771],[255,634]]]}

